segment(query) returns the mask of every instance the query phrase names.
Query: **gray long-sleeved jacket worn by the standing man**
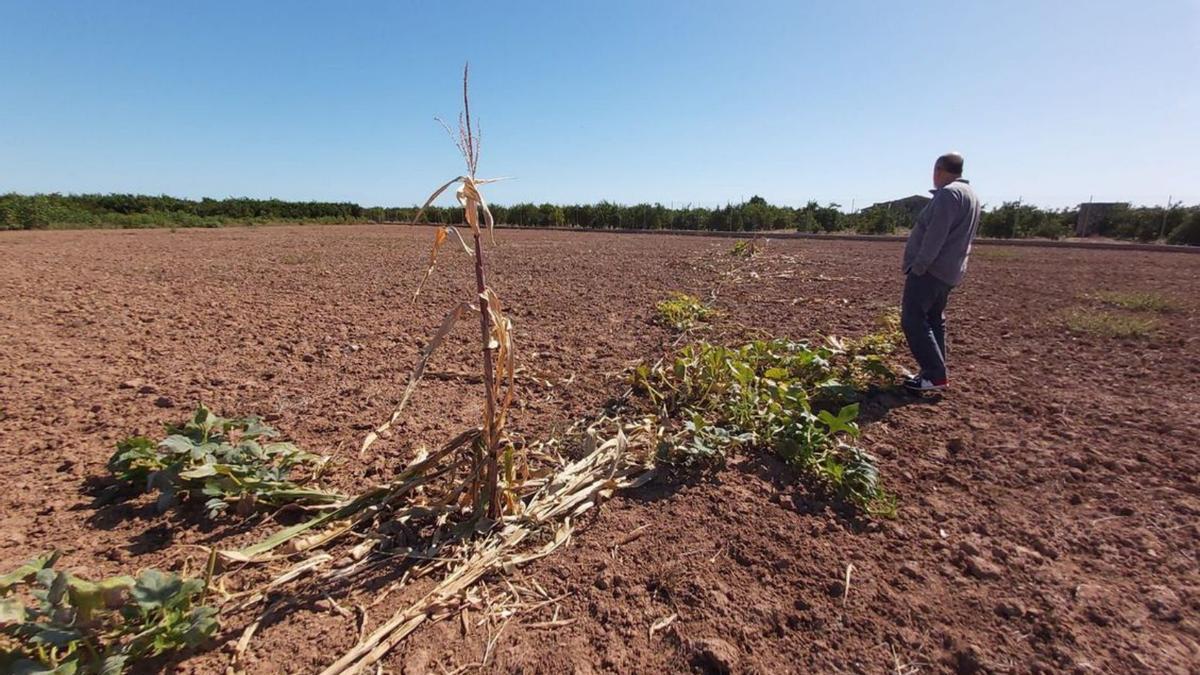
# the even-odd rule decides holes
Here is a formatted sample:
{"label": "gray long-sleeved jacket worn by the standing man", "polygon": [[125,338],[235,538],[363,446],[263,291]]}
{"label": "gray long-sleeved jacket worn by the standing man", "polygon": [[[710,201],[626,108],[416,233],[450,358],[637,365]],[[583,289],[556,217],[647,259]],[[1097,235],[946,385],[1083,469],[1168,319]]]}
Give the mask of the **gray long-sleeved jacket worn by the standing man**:
{"label": "gray long-sleeved jacket worn by the standing man", "polygon": [[929,274],[958,286],[967,270],[971,240],[979,229],[979,198],[966,180],[934,191],[908,234],[904,249],[904,270]]}

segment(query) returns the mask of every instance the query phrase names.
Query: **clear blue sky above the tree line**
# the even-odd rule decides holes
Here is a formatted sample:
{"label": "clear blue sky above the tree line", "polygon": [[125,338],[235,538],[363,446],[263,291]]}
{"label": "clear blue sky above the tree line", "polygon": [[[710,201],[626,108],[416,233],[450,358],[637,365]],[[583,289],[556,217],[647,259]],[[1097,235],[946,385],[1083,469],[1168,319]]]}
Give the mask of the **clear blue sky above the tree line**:
{"label": "clear blue sky above the tree line", "polygon": [[0,0],[0,192],[1200,202],[1200,2]]}

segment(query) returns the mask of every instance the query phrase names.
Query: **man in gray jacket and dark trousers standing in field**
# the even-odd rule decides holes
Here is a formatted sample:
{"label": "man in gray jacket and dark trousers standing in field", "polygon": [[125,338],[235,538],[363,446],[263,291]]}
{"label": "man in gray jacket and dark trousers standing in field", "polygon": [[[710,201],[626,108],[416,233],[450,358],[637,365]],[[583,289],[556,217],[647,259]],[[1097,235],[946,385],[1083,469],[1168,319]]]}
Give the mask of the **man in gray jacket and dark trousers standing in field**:
{"label": "man in gray jacket and dark trousers standing in field", "polygon": [[913,392],[949,386],[946,372],[946,300],[962,281],[971,240],[979,228],[979,199],[962,178],[962,155],[934,162],[934,198],[917,216],[904,250],[900,327],[920,372],[905,381]]}

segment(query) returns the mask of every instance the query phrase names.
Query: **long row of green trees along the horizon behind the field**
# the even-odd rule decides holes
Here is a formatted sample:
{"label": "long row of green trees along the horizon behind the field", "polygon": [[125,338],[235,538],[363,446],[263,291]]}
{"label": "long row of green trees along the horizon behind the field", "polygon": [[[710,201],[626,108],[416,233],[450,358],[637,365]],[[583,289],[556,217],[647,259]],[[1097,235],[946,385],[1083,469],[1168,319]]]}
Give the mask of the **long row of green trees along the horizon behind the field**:
{"label": "long row of green trees along the horizon behind the field", "polygon": [[[714,232],[857,232],[889,234],[912,227],[916,211],[904,205],[875,205],[854,214],[839,204],[776,207],[762,197],[707,209],[662,204],[514,204],[493,205],[496,221],[524,227],[593,229],[696,229]],[[415,207],[364,208],[349,202],[281,199],[180,199],[144,195],[0,195],[0,229],[46,227],[218,227],[246,222],[409,222]],[[432,207],[428,222],[455,223],[462,210]],[[1006,202],[986,209],[980,234],[995,238],[1070,237],[1079,211],[1039,209]],[[1127,207],[1108,209],[1090,223],[1103,237],[1200,245],[1200,207]]]}

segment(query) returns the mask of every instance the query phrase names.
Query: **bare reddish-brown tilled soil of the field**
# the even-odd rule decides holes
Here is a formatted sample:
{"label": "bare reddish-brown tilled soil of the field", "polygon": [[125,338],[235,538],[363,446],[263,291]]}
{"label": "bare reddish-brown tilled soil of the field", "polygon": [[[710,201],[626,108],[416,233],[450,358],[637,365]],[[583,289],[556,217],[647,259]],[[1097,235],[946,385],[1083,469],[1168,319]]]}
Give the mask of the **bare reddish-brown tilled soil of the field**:
{"label": "bare reddish-brown tilled soil of the field", "polygon": [[[478,329],[460,325],[398,432],[358,459],[444,311],[473,294],[432,231],[397,226],[0,235],[0,571],[65,551],[98,577],[203,567],[270,514],[210,524],[149,495],[97,502],[120,438],[199,401],[260,414],[335,454],[334,486],[388,479],[481,414]],[[702,237],[499,231],[491,286],[516,328],[512,429],[562,434],[662,356],[671,291],[709,298],[697,338],[866,333],[899,303],[902,244],[770,241],[749,261]],[[736,274],[730,274],[736,270]],[[1166,311],[1104,307],[1152,292]],[[1128,338],[1079,312],[1153,321]],[[390,673],[917,673],[1200,670],[1200,257],[980,247],[950,301],[942,396],[880,393],[863,446],[899,498],[857,520],[786,465],[742,455],[674,472],[589,512],[553,555],[486,581],[558,598],[498,626],[427,625]],[[901,354],[902,360],[907,360]],[[101,500],[102,502],[102,500]],[[848,585],[847,585],[847,569]],[[314,673],[400,607],[386,567],[264,621],[250,673]],[[418,585],[412,592],[420,592]],[[406,591],[409,592],[409,591]],[[346,608],[370,608],[364,617]],[[210,651],[160,663],[223,673],[246,616]],[[486,657],[486,658],[485,658]]]}

